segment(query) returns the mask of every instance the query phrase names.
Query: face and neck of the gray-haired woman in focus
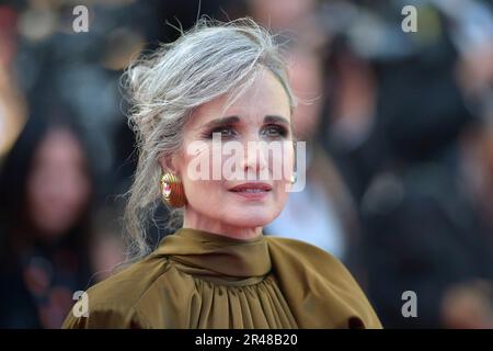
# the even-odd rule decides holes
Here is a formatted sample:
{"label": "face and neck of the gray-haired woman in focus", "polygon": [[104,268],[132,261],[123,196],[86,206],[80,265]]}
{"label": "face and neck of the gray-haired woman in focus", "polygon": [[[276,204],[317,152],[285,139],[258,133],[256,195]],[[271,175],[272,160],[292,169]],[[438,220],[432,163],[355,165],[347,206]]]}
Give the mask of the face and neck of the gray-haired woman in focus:
{"label": "face and neck of the gray-haired woman in focus", "polygon": [[266,69],[225,110],[226,101],[220,97],[194,112],[171,162],[187,199],[184,227],[251,238],[279,215],[288,196],[294,168],[289,101]]}

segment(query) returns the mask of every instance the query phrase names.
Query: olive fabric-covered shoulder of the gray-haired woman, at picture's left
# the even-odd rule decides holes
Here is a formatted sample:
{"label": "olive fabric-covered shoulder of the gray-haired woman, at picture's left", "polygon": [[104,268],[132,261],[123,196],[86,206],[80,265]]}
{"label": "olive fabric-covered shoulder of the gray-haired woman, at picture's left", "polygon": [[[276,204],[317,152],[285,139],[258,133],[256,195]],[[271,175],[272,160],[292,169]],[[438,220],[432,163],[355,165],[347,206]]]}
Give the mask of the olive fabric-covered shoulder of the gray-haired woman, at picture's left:
{"label": "olive fabric-covered shoulder of the gray-haired woman, at picture's left", "polygon": [[151,253],[91,286],[62,328],[151,328],[142,305],[150,305],[148,301],[156,297],[162,280],[173,279],[170,268],[168,258]]}

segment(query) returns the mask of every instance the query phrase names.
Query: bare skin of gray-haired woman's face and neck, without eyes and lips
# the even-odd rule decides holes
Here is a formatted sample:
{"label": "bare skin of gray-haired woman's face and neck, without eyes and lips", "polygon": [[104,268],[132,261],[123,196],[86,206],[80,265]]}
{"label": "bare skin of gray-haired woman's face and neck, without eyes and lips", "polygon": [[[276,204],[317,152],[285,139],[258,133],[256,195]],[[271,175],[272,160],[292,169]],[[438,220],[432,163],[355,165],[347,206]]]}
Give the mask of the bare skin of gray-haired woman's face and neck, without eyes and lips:
{"label": "bare skin of gray-haired woman's face and neck, without eyes and lips", "polygon": [[[256,156],[248,152],[250,141],[291,141],[291,116],[288,95],[277,78],[263,69],[260,77],[239,98],[225,110],[227,95],[219,97],[198,107],[185,125],[183,145],[180,152],[171,159],[162,159],[164,169],[172,169],[182,179],[187,205],[184,208],[185,228],[211,231],[240,239],[252,239],[262,234],[262,228],[274,220],[286,204],[289,189],[290,172],[283,172],[282,179],[273,177],[273,168],[283,163],[293,170],[294,149],[283,152],[283,157],[261,151]],[[243,146],[243,157],[240,157],[239,171],[244,180],[196,180],[190,174],[191,162],[196,157],[213,155],[213,138],[210,123],[225,117],[238,117],[231,125],[215,127],[213,133],[221,134],[221,145],[234,140]],[[265,116],[277,116],[284,120],[272,122]],[[191,155],[187,150],[191,143],[203,141],[198,154]],[[221,155],[225,162],[231,155]],[[210,166],[213,167],[213,161]],[[268,179],[261,180],[261,172],[268,170]],[[210,171],[210,174],[211,171]],[[272,189],[262,199],[248,199],[231,192],[239,184],[254,181],[267,183]],[[274,179],[275,178],[275,179]]]}

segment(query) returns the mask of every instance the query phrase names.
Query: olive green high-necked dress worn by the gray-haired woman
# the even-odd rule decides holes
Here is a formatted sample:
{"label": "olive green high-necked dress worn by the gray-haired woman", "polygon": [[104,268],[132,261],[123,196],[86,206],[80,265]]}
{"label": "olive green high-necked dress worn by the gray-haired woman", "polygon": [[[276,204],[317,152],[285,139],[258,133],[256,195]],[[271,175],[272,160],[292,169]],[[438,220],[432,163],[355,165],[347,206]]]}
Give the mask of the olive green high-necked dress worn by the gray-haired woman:
{"label": "olive green high-necked dress worn by the gray-haired woman", "polygon": [[344,265],[298,240],[191,228],[92,286],[64,328],[381,328]]}

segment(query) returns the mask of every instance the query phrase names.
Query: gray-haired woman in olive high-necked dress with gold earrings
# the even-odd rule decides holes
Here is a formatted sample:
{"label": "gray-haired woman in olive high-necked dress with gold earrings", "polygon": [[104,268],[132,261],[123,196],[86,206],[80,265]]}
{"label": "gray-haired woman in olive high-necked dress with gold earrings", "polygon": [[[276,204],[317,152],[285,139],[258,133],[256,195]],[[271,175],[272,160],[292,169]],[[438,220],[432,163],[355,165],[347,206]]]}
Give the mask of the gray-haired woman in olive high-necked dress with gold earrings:
{"label": "gray-haired woman in olive high-necked dress with gold earrings", "polygon": [[[202,20],[128,77],[140,150],[126,212],[136,262],[91,287],[66,328],[381,327],[336,259],[263,236],[286,203],[295,163],[295,98],[268,33],[248,19]],[[274,141],[290,148],[250,148]],[[246,149],[236,149],[231,167],[241,177],[225,177],[226,167],[215,177],[231,160],[218,144]],[[280,163],[289,172],[274,177]],[[179,229],[148,254],[146,218],[160,196]]]}

